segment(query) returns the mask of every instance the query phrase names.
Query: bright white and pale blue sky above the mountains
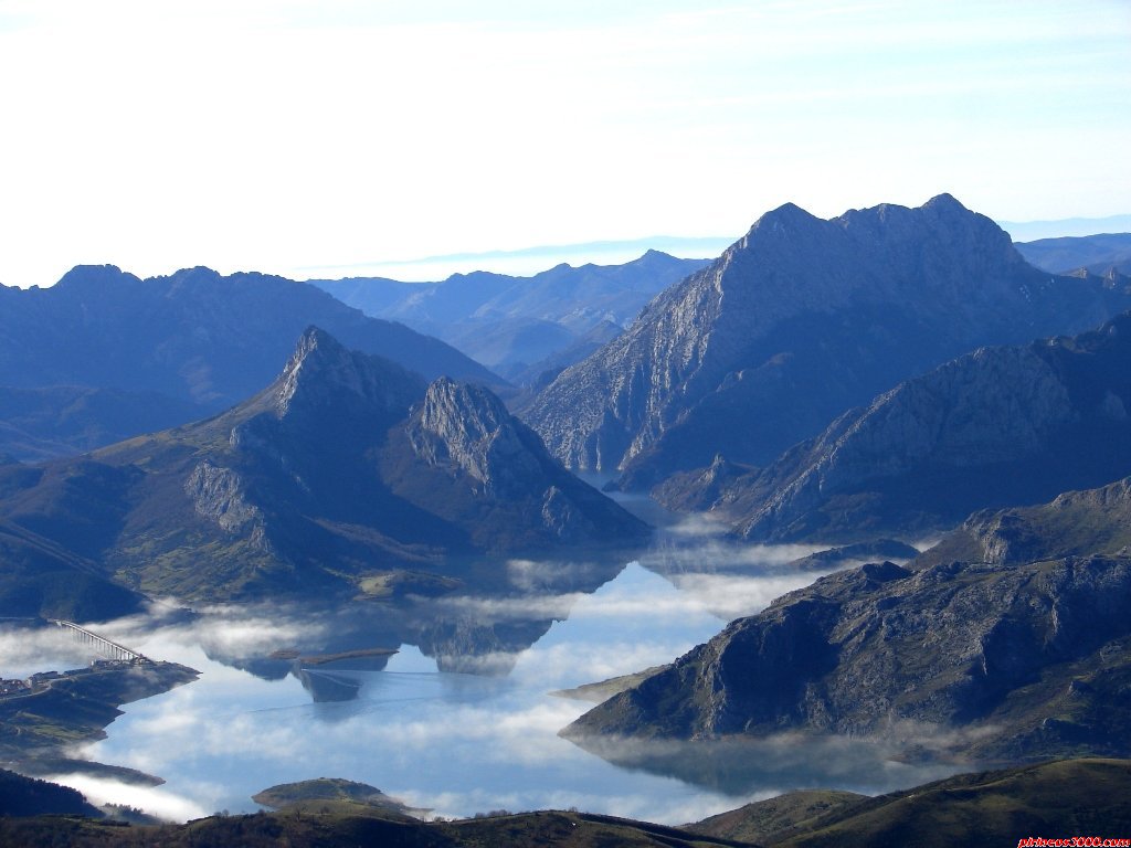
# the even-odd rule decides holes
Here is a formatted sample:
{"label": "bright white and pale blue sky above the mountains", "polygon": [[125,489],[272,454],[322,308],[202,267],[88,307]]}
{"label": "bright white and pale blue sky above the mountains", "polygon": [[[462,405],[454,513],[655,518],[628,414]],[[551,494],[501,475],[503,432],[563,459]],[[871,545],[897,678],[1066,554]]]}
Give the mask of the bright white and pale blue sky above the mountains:
{"label": "bright white and pale blue sky above the mountains", "polygon": [[1131,213],[1129,0],[0,0],[0,80],[5,285]]}

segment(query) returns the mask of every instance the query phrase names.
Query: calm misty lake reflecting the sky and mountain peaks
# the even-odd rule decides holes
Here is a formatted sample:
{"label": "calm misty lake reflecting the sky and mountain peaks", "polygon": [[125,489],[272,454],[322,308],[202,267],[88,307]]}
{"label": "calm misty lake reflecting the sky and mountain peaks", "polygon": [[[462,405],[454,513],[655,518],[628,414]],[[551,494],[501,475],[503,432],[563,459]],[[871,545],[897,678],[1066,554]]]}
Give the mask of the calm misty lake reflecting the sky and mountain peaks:
{"label": "calm misty lake reflecting the sky and mountain peaks", "polygon": [[550,692],[671,661],[814,580],[820,572],[788,564],[804,553],[676,526],[628,564],[484,565],[489,588],[465,571],[444,576],[442,591],[339,607],[162,608],[111,622],[96,630],[204,673],[127,706],[109,738],[86,752],[167,784],[140,797],[58,777],[98,799],[181,819],[250,811],[250,796],[268,786],[333,776],[448,816],[577,806],[668,823],[795,786],[889,789],[933,777],[877,769],[882,752],[870,761],[870,782],[845,786],[827,751],[770,768],[765,751],[597,756],[558,735],[590,704]]}

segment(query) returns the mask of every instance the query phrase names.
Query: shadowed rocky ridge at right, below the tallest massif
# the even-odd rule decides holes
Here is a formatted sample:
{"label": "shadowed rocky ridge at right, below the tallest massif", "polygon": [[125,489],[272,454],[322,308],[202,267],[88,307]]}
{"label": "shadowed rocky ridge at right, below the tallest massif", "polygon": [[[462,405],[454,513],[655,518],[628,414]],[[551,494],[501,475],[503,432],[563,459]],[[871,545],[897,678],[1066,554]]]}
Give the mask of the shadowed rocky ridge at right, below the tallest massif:
{"label": "shadowed rocky ridge at right, below the tallest massif", "polygon": [[746,538],[947,529],[1131,473],[1131,314],[1076,338],[983,348],[840,416],[765,468],[716,462],[657,497]]}

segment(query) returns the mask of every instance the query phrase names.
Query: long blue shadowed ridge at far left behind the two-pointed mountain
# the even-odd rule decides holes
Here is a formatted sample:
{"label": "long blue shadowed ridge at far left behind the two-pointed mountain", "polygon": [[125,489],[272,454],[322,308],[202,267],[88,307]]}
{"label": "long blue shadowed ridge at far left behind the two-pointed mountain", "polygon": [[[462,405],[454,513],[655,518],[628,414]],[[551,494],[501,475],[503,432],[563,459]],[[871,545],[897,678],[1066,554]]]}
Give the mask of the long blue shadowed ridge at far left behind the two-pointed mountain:
{"label": "long blue shadowed ridge at far left behind the two-pointed mountain", "polygon": [[75,453],[225,409],[269,382],[310,325],[428,378],[506,387],[439,339],[282,277],[80,266],[51,288],[0,286],[0,453]]}

